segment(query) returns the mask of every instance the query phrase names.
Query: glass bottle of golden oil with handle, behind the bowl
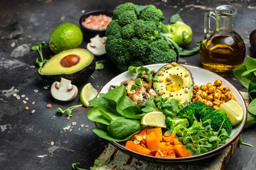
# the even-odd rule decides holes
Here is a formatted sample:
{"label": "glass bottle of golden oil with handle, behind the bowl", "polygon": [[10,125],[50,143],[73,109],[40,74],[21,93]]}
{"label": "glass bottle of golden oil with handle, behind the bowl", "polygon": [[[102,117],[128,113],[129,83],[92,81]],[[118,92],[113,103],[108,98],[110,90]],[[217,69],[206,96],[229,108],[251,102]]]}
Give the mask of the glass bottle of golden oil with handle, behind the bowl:
{"label": "glass bottle of golden oil with handle, behind the bowl", "polygon": [[[206,33],[200,46],[203,68],[227,77],[245,60],[245,42],[232,29],[235,6],[223,5],[208,11],[204,18]],[[210,18],[215,19],[215,30],[210,30]]]}

